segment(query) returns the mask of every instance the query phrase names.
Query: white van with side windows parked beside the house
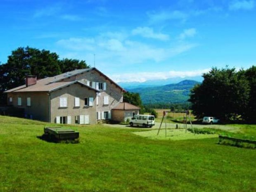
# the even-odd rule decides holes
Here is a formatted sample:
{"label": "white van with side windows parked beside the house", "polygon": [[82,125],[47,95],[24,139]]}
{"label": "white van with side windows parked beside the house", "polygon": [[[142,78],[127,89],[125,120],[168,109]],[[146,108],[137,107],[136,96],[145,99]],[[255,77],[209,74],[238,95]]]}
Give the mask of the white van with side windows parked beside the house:
{"label": "white van with side windows parked beside the house", "polygon": [[130,126],[142,126],[142,127],[152,127],[155,125],[154,115],[135,115],[130,120]]}

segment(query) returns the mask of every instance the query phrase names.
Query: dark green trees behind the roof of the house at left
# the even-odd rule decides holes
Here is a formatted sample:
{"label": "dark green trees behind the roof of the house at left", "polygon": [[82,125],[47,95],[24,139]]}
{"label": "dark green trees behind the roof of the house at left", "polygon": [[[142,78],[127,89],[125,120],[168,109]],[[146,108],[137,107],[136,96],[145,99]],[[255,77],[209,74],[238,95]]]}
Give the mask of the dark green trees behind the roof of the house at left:
{"label": "dark green trees behind the roof of the house at left", "polygon": [[19,47],[8,56],[7,63],[0,65],[0,104],[6,102],[2,92],[24,85],[27,75],[36,75],[40,79],[88,67],[83,60],[59,59],[55,52]]}

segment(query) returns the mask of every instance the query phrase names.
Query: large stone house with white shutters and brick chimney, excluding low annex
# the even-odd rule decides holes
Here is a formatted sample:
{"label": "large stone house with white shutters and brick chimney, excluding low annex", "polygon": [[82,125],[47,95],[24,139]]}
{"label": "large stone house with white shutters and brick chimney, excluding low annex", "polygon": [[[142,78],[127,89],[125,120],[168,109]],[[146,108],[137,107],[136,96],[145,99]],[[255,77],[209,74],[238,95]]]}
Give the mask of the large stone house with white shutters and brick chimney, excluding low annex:
{"label": "large stone house with white shutters and brick chimney, excluding low annex", "polygon": [[8,105],[24,115],[51,123],[94,124],[112,119],[112,109],[123,102],[125,90],[96,68],[78,69],[5,91]]}

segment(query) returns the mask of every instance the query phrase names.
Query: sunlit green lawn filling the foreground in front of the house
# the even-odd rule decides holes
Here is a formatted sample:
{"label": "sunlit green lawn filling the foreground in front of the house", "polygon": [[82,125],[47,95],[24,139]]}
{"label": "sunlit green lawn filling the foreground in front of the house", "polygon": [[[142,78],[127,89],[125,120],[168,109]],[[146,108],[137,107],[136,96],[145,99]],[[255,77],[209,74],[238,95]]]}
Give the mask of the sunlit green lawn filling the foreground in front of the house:
{"label": "sunlit green lawn filling the foreground in front of the house", "polygon": [[217,138],[150,140],[109,126],[73,126],[79,144],[51,143],[37,138],[44,125],[0,116],[0,192],[256,190],[254,149]]}

